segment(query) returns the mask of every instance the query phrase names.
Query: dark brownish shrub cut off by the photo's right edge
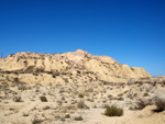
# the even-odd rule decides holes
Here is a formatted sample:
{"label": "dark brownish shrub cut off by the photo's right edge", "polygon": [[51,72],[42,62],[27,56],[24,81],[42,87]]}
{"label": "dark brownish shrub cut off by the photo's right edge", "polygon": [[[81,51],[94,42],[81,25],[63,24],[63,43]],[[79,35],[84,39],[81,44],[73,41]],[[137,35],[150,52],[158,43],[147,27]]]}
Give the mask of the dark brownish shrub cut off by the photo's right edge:
{"label": "dark brownish shrub cut off by the photo's right edge", "polygon": [[165,98],[156,98],[155,105],[158,111],[165,111]]}

